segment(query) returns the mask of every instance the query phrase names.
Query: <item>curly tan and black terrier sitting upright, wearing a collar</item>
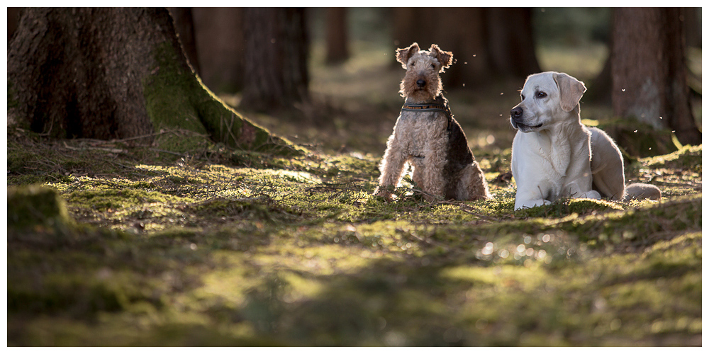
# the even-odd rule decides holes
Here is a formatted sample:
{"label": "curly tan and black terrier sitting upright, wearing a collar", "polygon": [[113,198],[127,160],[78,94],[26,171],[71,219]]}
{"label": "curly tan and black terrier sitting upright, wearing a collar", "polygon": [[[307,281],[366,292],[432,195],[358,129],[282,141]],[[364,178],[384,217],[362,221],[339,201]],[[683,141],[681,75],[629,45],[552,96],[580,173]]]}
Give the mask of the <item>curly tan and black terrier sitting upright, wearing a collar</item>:
{"label": "curly tan and black terrier sitting upright, wearing a collar", "polygon": [[398,49],[396,60],[406,69],[399,91],[405,101],[386,142],[374,194],[391,200],[408,163],[413,166],[413,182],[426,200],[491,198],[483,172],[442,94],[439,74],[450,67],[453,53],[437,45],[427,52],[413,43]]}

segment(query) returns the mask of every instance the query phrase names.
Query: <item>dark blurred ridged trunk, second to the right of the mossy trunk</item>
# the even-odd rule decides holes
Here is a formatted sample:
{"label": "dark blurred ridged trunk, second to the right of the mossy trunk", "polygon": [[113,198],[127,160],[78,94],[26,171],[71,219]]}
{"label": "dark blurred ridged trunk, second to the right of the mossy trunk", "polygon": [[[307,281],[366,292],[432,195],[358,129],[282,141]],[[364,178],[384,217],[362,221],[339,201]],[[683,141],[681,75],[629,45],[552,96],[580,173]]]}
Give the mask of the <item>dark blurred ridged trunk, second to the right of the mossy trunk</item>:
{"label": "dark blurred ridged trunk, second to the right of the mossy trunk", "polygon": [[245,8],[245,88],[240,106],[292,108],[308,100],[308,38],[303,8]]}

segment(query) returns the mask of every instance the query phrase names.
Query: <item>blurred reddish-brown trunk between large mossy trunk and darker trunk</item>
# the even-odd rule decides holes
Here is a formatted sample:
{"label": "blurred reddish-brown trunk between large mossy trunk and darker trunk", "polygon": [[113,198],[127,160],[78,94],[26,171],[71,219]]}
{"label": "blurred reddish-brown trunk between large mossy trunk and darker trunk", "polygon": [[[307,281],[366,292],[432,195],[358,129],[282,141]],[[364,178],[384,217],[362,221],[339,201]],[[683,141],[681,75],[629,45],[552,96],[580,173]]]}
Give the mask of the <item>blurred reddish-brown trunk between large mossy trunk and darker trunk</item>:
{"label": "blurred reddish-brown trunk between large mossy trunk and darker trunk", "polygon": [[215,92],[244,88],[242,8],[192,8],[201,77]]}

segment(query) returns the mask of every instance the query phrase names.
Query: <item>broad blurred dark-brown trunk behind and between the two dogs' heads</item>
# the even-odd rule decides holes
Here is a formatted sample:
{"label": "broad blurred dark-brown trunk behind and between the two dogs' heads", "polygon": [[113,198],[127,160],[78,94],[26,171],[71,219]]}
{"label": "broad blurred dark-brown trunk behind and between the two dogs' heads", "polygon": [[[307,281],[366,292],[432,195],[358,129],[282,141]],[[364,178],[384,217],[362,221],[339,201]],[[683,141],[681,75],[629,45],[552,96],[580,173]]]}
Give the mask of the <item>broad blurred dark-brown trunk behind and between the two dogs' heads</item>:
{"label": "broad blurred dark-brown trunk behind and between the two dogs' heads", "polygon": [[447,87],[540,71],[528,8],[394,8],[392,17],[398,47],[435,43],[453,52],[456,62],[442,76]]}

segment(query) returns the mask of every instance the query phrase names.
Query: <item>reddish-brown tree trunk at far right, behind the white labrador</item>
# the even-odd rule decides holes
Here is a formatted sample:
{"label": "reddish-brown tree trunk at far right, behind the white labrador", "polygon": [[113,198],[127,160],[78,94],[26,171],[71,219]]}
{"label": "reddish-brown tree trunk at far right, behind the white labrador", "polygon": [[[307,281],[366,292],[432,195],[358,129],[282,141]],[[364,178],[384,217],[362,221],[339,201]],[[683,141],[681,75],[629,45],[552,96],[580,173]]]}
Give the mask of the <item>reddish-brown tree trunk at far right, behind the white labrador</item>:
{"label": "reddish-brown tree trunk at far right, behind the white labrador", "polygon": [[674,130],[682,144],[701,144],[686,84],[679,8],[616,8],[613,15],[613,113],[655,129]]}

